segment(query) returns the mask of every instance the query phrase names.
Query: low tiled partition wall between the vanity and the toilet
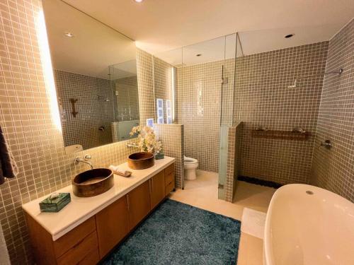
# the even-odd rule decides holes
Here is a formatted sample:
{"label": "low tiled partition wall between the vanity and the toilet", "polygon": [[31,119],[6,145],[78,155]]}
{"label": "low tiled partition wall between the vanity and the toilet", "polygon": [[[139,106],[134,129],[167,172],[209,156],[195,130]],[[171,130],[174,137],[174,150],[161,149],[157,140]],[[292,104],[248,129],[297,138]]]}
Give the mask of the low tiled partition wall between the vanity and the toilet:
{"label": "low tiled partition wall between the vanity and the toilet", "polygon": [[183,124],[154,124],[156,136],[161,140],[164,154],[176,158],[176,188],[183,188]]}

